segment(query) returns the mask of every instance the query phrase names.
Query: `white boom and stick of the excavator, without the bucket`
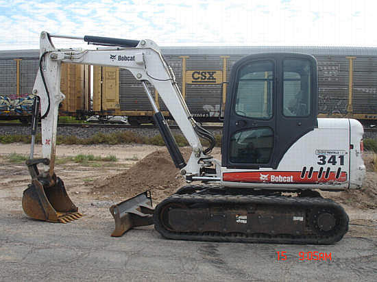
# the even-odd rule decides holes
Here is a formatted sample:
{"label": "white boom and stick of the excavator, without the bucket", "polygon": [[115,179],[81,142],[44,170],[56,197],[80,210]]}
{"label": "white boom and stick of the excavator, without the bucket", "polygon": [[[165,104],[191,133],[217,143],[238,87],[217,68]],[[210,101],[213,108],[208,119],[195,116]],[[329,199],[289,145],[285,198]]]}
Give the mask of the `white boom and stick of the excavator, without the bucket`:
{"label": "white boom and stick of the excavator, without the bucket", "polygon": [[[74,50],[74,49],[56,49],[51,38],[73,38],[82,39],[92,44],[103,44],[106,46],[116,44],[114,49],[103,50]],[[161,125],[162,136],[167,142],[169,152],[175,162],[175,166],[184,170],[184,175],[190,177],[201,176],[201,166],[203,159],[212,159],[209,152],[202,148],[199,135],[203,129],[193,119],[189,108],[187,107],[180,89],[175,82],[175,77],[171,68],[167,65],[160,53],[158,45],[152,40],[123,40],[117,38],[102,38],[95,36],[84,36],[84,38],[74,38],[72,36],[55,36],[43,31],[40,36],[40,70],[34,84],[34,94],[38,94],[41,103],[42,115],[42,153],[43,157],[50,159],[49,174],[53,174],[55,145],[56,145],[56,127],[58,120],[58,107],[60,102],[65,98],[60,92],[60,66],[64,63],[70,64],[90,64],[100,66],[116,66],[125,68],[141,81],[145,92],[154,109],[154,118]],[[169,131],[163,120],[162,114],[154,103],[154,99],[149,92],[146,81],[149,81],[158,91],[162,101],[171,112],[175,122],[180,127],[185,138],[193,148],[193,153],[187,164],[182,159],[178,147],[174,140],[170,138]],[[208,133],[207,133],[208,134]]]}

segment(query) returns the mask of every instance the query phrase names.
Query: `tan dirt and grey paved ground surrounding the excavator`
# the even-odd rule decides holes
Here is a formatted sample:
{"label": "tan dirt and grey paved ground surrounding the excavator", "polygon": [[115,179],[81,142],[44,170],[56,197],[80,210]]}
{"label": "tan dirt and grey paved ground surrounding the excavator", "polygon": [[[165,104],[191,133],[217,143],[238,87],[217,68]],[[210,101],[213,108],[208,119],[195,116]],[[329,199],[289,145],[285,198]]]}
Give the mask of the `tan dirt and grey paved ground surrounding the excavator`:
{"label": "tan dirt and grey paved ground surrounding the excavator", "polygon": [[[344,205],[350,231],[329,246],[165,240],[153,227],[111,238],[114,220],[108,207],[124,198],[112,191],[107,198],[93,194],[93,183],[123,173],[136,162],[130,157],[142,159],[158,147],[58,146],[59,156],[116,152],[119,157],[112,166],[56,167],[85,214],[66,225],[31,220],[23,213],[29,173],[5,156],[28,149],[27,144],[0,144],[0,281],[376,281],[376,209]],[[331,260],[308,260],[314,252],[331,253]]]}

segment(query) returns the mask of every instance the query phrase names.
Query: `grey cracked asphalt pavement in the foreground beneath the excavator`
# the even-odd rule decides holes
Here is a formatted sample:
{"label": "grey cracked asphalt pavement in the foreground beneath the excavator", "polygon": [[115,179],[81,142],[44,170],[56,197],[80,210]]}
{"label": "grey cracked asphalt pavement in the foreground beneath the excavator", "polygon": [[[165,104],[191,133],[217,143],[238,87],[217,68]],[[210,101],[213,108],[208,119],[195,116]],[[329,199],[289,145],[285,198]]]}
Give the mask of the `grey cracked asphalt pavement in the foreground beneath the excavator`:
{"label": "grey cracked asphalt pavement in the foreground beneath the excavator", "polygon": [[113,227],[3,210],[0,281],[377,281],[376,238],[346,236],[330,246],[189,242],[165,240],[153,227],[111,238]]}

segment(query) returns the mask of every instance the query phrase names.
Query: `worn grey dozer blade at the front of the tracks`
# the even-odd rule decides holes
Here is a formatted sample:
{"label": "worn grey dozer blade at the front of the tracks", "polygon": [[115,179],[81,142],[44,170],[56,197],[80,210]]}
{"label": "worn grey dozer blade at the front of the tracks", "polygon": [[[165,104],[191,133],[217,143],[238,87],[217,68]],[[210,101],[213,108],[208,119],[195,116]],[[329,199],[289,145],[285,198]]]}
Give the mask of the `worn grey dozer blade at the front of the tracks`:
{"label": "worn grey dozer blade at the front of the tracks", "polygon": [[112,205],[110,213],[115,220],[112,237],[119,237],[134,227],[153,225],[154,209],[151,192],[147,190],[117,205]]}

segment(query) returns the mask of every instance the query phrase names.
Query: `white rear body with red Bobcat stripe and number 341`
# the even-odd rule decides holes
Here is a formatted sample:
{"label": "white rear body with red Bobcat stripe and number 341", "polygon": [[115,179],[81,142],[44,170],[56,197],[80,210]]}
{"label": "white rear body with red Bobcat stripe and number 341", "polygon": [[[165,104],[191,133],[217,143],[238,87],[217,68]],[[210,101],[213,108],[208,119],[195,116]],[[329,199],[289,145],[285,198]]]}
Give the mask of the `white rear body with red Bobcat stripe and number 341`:
{"label": "white rear body with red Bobcat stripe and number 341", "polygon": [[361,188],[363,127],[350,118],[319,118],[318,127],[285,153],[278,168],[221,168],[221,185],[260,189]]}

